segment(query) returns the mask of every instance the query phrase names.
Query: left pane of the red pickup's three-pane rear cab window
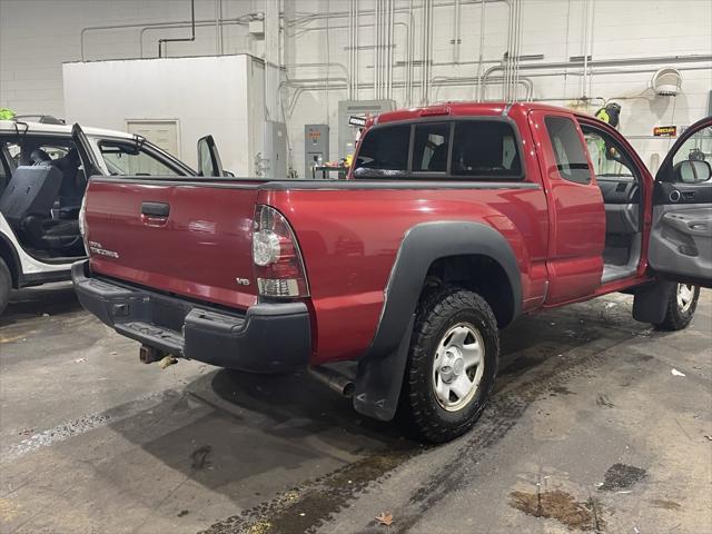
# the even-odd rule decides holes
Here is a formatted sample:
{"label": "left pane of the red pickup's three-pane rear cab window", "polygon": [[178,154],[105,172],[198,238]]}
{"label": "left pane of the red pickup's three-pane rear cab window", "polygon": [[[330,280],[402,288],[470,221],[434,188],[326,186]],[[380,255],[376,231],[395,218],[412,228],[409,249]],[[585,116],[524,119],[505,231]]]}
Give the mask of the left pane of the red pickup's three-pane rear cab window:
{"label": "left pane of the red pickup's three-pane rear cab window", "polygon": [[409,146],[411,125],[382,126],[368,130],[359,141],[354,176],[382,176],[378,171],[383,170],[405,174]]}

